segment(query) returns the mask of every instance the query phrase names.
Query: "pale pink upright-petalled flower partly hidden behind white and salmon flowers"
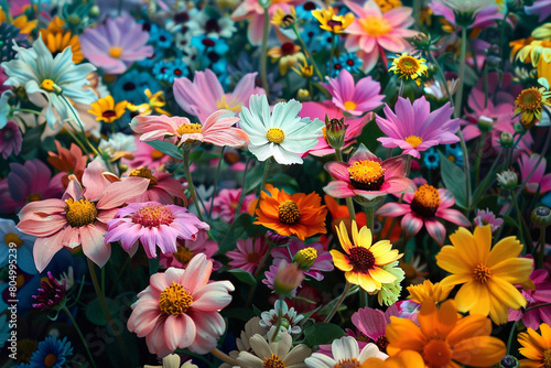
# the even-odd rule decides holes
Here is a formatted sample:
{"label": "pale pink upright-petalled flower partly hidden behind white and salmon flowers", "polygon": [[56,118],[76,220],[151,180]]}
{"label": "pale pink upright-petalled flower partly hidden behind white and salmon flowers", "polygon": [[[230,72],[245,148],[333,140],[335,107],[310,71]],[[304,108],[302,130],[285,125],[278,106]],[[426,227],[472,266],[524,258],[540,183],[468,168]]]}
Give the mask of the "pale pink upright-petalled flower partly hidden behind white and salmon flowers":
{"label": "pale pink upright-petalled flower partly hidden behind white and salmon flowers", "polygon": [[185,112],[196,116],[199,121],[220,109],[237,113],[241,106],[249,107],[250,96],[266,95],[262,88],[255,86],[256,76],[257,73],[244,75],[234,91],[225,94],[213,71],[195,72],[193,83],[187,78],[174,80],[174,98]]}

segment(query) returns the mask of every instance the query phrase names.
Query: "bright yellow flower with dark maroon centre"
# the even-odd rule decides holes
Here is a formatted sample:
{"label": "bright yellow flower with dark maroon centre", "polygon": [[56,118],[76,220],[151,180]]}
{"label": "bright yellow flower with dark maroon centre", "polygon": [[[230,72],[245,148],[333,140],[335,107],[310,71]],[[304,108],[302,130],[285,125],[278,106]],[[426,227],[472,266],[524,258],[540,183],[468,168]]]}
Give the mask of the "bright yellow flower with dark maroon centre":
{"label": "bright yellow flower with dark maroon centre", "polygon": [[352,242],[344,223],[341,223],[337,228],[337,236],[345,255],[338,250],[332,250],[333,263],[341,271],[345,271],[345,278],[349,283],[360,285],[365,291],[372,293],[380,290],[383,283],[396,281],[393,274],[382,269],[383,266],[402,257],[397,249],[392,249],[390,241],[380,240],[371,245],[371,230],[366,226],[358,231],[358,226],[354,220],[352,221]]}

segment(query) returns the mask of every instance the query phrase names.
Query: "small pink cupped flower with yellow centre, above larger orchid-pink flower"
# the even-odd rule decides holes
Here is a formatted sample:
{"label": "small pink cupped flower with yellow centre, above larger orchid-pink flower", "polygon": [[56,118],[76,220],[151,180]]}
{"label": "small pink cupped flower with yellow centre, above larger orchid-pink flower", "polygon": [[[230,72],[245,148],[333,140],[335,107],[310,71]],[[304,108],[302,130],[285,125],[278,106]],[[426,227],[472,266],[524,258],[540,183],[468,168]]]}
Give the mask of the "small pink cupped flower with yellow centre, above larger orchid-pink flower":
{"label": "small pink cupped flower with yellow centre, above larger orchid-pink flower", "polygon": [[379,95],[380,84],[371,77],[365,77],[354,84],[354,77],[343,69],[328,84],[321,83],[333,96],[333,104],[348,113],[360,116],[382,105],[385,95]]}

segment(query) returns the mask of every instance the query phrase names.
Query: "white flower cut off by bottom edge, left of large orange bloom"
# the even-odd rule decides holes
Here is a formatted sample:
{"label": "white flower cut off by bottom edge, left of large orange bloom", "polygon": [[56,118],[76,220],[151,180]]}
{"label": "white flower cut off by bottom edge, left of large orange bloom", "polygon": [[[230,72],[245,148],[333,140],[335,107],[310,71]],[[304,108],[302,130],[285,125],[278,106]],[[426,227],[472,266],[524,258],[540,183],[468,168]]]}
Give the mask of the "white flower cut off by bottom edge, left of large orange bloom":
{"label": "white flower cut off by bottom edge, left of large orange bloom", "polygon": [[334,340],[331,350],[333,358],[325,354],[314,353],[304,362],[309,368],[359,367],[368,358],[381,360],[388,358],[388,355],[379,351],[375,344],[367,344],[359,353],[358,342],[352,336]]}

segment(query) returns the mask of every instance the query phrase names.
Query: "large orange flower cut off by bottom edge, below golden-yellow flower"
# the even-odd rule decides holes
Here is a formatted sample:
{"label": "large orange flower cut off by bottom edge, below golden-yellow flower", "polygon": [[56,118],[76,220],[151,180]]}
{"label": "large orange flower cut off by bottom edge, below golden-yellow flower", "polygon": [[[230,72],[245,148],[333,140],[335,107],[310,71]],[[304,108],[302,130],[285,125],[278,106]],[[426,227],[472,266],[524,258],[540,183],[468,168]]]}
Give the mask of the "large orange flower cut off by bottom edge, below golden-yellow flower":
{"label": "large orange flower cut off by bottom edge, below golden-yellow flower", "polygon": [[453,300],[445,301],[440,309],[432,300],[423,303],[419,325],[411,320],[390,317],[388,355],[414,350],[429,368],[458,368],[461,365],[491,367],[506,354],[504,342],[489,336],[491,322],[479,314],[462,317]]}

